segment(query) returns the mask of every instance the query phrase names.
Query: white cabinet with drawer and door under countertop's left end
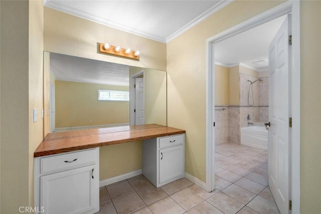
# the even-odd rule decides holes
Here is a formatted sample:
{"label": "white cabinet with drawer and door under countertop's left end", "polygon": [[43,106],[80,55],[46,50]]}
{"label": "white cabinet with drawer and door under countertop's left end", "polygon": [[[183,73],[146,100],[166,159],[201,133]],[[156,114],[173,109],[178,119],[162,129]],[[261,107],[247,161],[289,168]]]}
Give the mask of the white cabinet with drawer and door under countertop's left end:
{"label": "white cabinet with drawer and door under countertop's left end", "polygon": [[99,148],[35,158],[35,206],[43,213],[99,211]]}

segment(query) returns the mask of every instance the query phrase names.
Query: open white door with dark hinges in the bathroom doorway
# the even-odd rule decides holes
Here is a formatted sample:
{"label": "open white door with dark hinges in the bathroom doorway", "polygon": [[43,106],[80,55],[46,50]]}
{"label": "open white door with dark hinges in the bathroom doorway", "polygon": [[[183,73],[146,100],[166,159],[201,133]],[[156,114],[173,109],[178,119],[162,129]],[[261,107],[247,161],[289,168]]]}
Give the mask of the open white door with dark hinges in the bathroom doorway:
{"label": "open white door with dark hinges in the bathroom doorway", "polygon": [[269,46],[269,186],[280,212],[289,212],[289,117],[291,75],[291,16],[288,15]]}

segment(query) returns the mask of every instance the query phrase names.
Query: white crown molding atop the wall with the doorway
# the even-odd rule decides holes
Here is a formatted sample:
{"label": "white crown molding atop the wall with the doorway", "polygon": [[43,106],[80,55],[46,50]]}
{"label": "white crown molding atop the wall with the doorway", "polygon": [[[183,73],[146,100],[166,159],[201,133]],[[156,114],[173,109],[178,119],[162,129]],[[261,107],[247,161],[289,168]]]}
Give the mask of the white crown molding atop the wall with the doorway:
{"label": "white crown molding atop the wall with the doorway", "polygon": [[219,3],[217,3],[216,5],[214,5],[213,7],[211,7],[210,9],[208,9],[207,11],[205,11],[203,14],[201,14],[200,16],[196,17],[194,20],[192,20],[191,22],[189,22],[188,24],[186,24],[185,26],[183,26],[182,28],[180,28],[179,30],[177,30],[175,33],[173,33],[172,35],[168,36],[166,38],[166,43],[171,42],[172,40],[174,40],[175,38],[177,38],[178,36],[180,36],[181,34],[183,34],[184,32],[190,30],[191,28],[193,28],[194,26],[198,25],[199,23],[203,22],[204,20],[206,20],[207,18],[209,18],[211,15],[215,14],[216,12],[218,12],[219,10],[225,8],[226,6],[228,6],[229,4],[231,4],[232,2],[234,2],[235,0],[221,0]]}

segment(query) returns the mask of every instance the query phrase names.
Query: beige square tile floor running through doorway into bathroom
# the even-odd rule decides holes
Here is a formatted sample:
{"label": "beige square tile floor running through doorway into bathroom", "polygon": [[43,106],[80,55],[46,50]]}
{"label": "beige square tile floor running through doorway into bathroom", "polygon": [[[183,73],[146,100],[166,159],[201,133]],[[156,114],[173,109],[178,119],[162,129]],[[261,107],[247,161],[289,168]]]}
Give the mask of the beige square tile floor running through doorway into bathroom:
{"label": "beige square tile floor running through doorway into bathroom", "polygon": [[143,175],[100,188],[98,213],[279,213],[268,187],[267,151],[216,146],[216,189],[186,178],[155,188]]}

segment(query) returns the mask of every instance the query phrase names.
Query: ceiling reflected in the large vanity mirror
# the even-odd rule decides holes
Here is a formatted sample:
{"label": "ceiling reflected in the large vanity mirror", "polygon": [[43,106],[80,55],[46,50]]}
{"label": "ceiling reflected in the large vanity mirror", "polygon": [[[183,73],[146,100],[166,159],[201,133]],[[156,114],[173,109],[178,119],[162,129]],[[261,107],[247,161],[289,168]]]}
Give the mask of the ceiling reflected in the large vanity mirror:
{"label": "ceiling reflected in the large vanity mirror", "polygon": [[129,66],[50,53],[50,69],[56,80],[129,85]]}

